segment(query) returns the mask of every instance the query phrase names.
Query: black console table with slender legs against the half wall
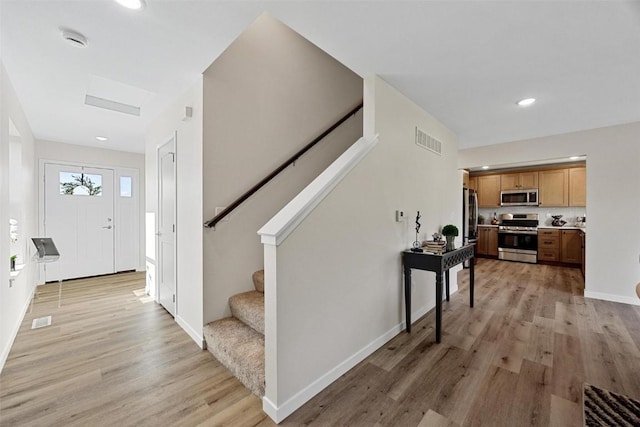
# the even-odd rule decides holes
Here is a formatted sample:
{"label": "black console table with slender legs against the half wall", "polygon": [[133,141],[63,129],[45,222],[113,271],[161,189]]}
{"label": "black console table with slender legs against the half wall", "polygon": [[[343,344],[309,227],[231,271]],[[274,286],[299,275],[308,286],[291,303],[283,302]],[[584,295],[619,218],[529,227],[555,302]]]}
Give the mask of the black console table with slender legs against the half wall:
{"label": "black console table with slender legs against the half wall", "polygon": [[474,243],[461,246],[442,254],[429,252],[402,252],[402,264],[404,266],[404,304],[407,332],[411,332],[411,269],[433,271],[436,273],[436,342],[440,342],[442,330],[442,276],[446,281],[446,296],[449,301],[449,269],[466,260],[469,262],[469,306],[473,307],[473,282],[474,282]]}

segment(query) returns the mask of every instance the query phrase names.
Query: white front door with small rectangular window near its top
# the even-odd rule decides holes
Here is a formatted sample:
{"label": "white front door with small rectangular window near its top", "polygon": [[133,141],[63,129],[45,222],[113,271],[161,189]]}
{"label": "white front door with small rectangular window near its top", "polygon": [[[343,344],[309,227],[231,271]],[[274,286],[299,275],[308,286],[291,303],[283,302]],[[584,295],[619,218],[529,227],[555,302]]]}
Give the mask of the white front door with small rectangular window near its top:
{"label": "white front door with small rectangular window near its top", "polygon": [[115,273],[113,170],[45,164],[44,232],[60,252],[46,281]]}

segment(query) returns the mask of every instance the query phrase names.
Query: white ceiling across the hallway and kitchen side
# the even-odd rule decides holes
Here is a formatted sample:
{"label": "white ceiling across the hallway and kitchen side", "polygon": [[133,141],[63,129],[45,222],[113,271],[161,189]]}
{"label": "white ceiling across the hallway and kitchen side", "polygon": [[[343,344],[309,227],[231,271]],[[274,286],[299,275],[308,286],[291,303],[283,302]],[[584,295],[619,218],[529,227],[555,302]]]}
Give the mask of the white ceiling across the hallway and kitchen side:
{"label": "white ceiling across the hallway and kitchen side", "polygon": [[640,121],[638,1],[146,2],[0,0],[1,59],[36,138],[144,152],[148,123],[264,11],[383,77],[461,148]]}

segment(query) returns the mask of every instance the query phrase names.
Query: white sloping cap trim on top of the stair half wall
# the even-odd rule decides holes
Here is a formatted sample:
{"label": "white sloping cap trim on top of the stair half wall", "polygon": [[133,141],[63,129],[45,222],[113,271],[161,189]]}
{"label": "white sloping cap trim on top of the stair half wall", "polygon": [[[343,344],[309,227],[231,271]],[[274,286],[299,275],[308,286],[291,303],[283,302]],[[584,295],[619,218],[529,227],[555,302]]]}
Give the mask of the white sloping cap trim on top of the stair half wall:
{"label": "white sloping cap trim on top of the stair half wall", "polygon": [[375,135],[362,137],[349,147],[258,230],[262,243],[280,245],[377,143]]}

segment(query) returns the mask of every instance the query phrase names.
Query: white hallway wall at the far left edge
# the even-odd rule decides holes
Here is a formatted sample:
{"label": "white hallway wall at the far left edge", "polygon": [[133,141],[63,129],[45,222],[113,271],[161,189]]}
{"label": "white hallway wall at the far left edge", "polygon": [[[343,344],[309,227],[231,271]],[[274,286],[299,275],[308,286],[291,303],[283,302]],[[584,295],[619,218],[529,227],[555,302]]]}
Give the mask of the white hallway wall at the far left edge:
{"label": "white hallway wall at the far left edge", "polygon": [[[21,164],[10,167],[9,120],[14,123],[19,138],[11,138],[20,145]],[[13,170],[13,173],[10,173]],[[37,234],[37,185],[34,138],[20,106],[9,76],[0,62],[0,371],[24,317],[36,286],[36,269],[31,261],[33,250],[29,238]],[[11,193],[11,197],[10,197]],[[17,197],[13,197],[17,195]],[[14,200],[14,213],[10,199]],[[17,203],[15,203],[17,201]],[[15,215],[15,211],[19,215]],[[9,240],[9,218],[16,218],[20,248]],[[9,257],[21,254],[25,263],[20,276],[9,282]]]}

